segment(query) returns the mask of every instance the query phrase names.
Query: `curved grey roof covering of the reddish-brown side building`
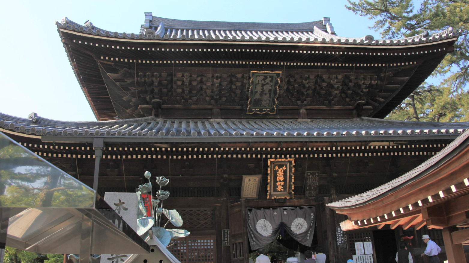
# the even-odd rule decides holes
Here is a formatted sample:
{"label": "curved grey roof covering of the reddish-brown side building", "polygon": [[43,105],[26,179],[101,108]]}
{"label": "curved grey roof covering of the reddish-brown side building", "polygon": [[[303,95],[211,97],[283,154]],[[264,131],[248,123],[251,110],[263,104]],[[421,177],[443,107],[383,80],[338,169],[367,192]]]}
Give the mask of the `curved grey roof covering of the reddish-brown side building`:
{"label": "curved grey roof covering of the reddish-brown side building", "polygon": [[[467,123],[466,123],[467,124]],[[414,182],[416,179],[430,173],[432,170],[439,168],[440,161],[447,160],[452,156],[462,151],[468,145],[469,131],[465,131],[461,136],[454,139],[448,146],[442,149],[439,153],[432,156],[427,161],[423,162],[416,168],[410,170],[404,175],[385,183],[375,189],[366,191],[362,194],[348,197],[337,202],[327,204],[327,206],[335,209],[346,209],[358,207],[385,197],[390,193],[401,189],[402,187]]]}

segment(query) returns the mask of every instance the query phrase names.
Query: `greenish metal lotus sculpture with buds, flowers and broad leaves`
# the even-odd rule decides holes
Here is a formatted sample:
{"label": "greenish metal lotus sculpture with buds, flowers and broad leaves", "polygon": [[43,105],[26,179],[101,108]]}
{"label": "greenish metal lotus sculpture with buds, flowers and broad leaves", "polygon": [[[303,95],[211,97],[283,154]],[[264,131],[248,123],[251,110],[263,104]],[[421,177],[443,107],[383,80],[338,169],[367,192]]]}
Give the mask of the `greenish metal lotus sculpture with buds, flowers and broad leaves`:
{"label": "greenish metal lotus sculpture with buds, flowers and broad leaves", "polygon": [[[173,226],[179,227],[182,226],[181,215],[176,210],[167,210],[163,208],[163,200],[169,197],[169,191],[161,190],[163,186],[169,183],[169,179],[166,179],[164,176],[156,177],[156,184],[159,185],[159,190],[155,192],[153,196],[152,185],[151,185],[151,173],[146,171],[144,173],[145,178],[148,179],[148,183],[144,183],[138,186],[136,194],[140,200],[138,207],[137,215],[137,234],[144,235],[147,232],[153,235],[153,238],[158,238],[158,240],[164,245],[167,246],[171,240],[178,239],[181,237],[186,237],[190,234],[189,231],[183,229],[166,229],[168,223],[171,222]],[[145,207],[144,197],[142,195],[150,193],[151,197],[156,197],[157,199],[151,199],[151,216],[148,216],[147,207]],[[168,221],[165,226],[161,227],[161,217],[166,216]],[[150,230],[151,231],[148,231]]]}

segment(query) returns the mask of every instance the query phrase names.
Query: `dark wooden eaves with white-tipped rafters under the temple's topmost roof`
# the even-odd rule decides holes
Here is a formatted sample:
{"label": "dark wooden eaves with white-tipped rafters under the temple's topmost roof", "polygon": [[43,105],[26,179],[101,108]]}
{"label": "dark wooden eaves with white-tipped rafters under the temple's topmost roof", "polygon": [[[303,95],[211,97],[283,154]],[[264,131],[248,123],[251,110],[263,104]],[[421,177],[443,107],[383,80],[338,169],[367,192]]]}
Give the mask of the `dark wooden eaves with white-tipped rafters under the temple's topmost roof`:
{"label": "dark wooden eaves with white-tipped rafters under the temple's topmost roof", "polygon": [[[448,38],[433,43],[402,46],[353,46],[318,43],[145,41],[92,36],[66,29],[59,29],[59,31],[80,86],[98,120],[112,119],[117,114],[107,92],[106,83],[99,71],[97,61],[105,64],[128,64],[129,62],[125,62],[125,60],[134,61],[134,63],[143,63],[142,61],[144,61],[150,63],[151,66],[156,66],[156,64],[152,64],[154,60],[164,61],[166,63],[157,64],[161,67],[161,71],[169,71],[169,73],[172,72],[173,66],[182,72],[210,70],[214,73],[236,73],[236,71],[245,71],[245,67],[249,66],[252,70],[272,71],[287,69],[287,71],[291,72],[307,73],[311,69],[318,70],[321,67],[318,65],[331,64],[340,65],[338,70],[334,70],[332,66],[329,66],[330,69],[327,70],[331,74],[345,70],[354,73],[360,73],[361,71],[363,73],[371,72],[378,75],[382,74],[383,70],[389,68],[386,65],[396,64],[401,65],[399,68],[408,67],[408,73],[405,76],[407,79],[395,83],[399,85],[399,88],[390,91],[392,95],[386,97],[386,101],[372,102],[377,105],[373,107],[374,109],[370,106],[363,107],[363,116],[385,117],[424,81],[434,68],[438,66],[446,52],[452,51],[452,45],[456,40],[456,38]],[[122,49],[121,47],[123,46],[127,49]],[[191,49],[199,49],[201,51],[190,51]],[[253,51],[242,52],[241,50],[243,49]],[[406,53],[407,55],[405,55]],[[311,54],[314,54],[314,56]],[[123,62],[119,60],[123,60]],[[259,62],[260,64],[257,64]],[[173,65],[173,63],[175,64]],[[300,65],[302,63],[303,65]],[[371,66],[367,69],[356,68],[356,65],[370,65],[370,63],[376,66]],[[212,64],[216,66],[211,67]],[[306,64],[310,65],[306,66]],[[404,64],[408,65],[402,66]],[[327,67],[322,66],[323,70],[326,70]],[[334,67],[337,68],[337,66]],[[388,83],[385,84],[392,86],[393,80],[389,79]],[[210,112],[212,109],[221,108],[223,112],[227,112],[225,116],[230,116],[230,114],[242,115],[245,111],[243,105],[162,105],[161,108],[175,109],[173,110],[174,114],[177,114],[177,109],[199,110],[200,113],[197,113],[199,116],[208,118],[212,117]],[[282,108],[280,105],[279,116],[282,116],[282,112],[287,114],[284,116],[298,116],[298,110],[301,109],[309,111],[308,115],[310,117],[318,116],[318,112],[324,113],[327,110],[334,110],[334,112],[342,117],[354,117],[354,114],[356,114],[354,113],[355,107],[353,106],[327,107],[303,105],[285,106]],[[343,113],[340,113],[340,110]],[[168,112],[168,110],[165,111]]]}

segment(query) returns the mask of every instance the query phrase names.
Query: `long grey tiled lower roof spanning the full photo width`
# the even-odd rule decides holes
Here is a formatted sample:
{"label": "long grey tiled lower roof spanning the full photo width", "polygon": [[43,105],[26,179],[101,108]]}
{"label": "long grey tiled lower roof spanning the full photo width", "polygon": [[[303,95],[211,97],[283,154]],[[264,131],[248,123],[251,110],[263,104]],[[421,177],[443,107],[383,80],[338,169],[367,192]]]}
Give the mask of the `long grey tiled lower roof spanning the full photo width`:
{"label": "long grey tiled lower roof spanning the full photo width", "polygon": [[[374,118],[356,119],[157,119],[66,122],[38,117],[13,117],[0,113],[0,128],[38,136],[70,137],[172,137],[172,138],[375,138],[415,139],[459,135],[469,123],[427,123]],[[354,139],[355,138],[355,139]],[[435,137],[432,137],[433,139]]]}

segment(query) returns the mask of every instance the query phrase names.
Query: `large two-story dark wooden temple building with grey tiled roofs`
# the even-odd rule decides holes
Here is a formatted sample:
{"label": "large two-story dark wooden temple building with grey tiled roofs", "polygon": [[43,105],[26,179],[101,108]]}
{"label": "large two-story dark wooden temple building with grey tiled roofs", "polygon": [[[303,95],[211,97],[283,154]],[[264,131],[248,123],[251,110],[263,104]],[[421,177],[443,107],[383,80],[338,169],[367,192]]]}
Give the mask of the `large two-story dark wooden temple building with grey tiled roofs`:
{"label": "large two-story dark wooden temple building with grey tiled roofs", "polygon": [[[468,126],[382,119],[453,50],[451,28],[375,40],[339,37],[329,18],[194,22],[151,13],[138,34],[68,18],[56,25],[98,121],[0,114],[0,131],[101,195],[133,192],[145,171],[170,179],[165,207],[191,232],[170,247],[184,263],[248,262],[246,208],[302,206],[317,211],[314,248],[344,262],[355,253],[349,243],[373,237],[350,232],[338,242],[346,218],[325,204],[415,168]],[[269,164],[286,159],[289,188],[280,194]]]}

